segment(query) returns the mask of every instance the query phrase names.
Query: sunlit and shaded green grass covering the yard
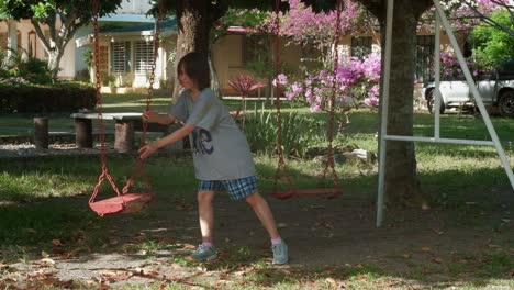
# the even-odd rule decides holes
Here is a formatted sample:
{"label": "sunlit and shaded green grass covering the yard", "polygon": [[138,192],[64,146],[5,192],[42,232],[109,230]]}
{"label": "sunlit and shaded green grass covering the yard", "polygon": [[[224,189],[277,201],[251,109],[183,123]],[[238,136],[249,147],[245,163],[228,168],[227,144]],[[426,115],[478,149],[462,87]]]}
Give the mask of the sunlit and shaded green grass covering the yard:
{"label": "sunlit and shaded green grass covering the yard", "polygon": [[[143,96],[144,97],[144,96]],[[145,100],[142,96],[105,96],[105,111],[142,111]],[[227,105],[237,108],[238,101],[226,100]],[[165,112],[168,97],[154,98],[154,108]],[[248,109],[261,105],[261,102],[248,102]],[[273,110],[272,104],[265,103],[266,110]],[[311,114],[305,108],[297,104],[284,105],[284,111],[308,114],[323,120],[324,114]],[[2,126],[32,126],[32,116],[1,115]],[[72,120],[68,115],[52,115],[51,129],[69,127]],[[492,118],[500,140],[505,144],[505,152],[514,166],[514,127],[513,119]],[[359,147],[377,152],[378,114],[367,110],[356,111],[351,123],[335,140],[336,146]],[[432,136],[433,116],[416,114],[414,134]],[[0,130],[1,131],[1,130]],[[15,130],[14,130],[15,131]],[[5,132],[0,132],[4,134]],[[16,134],[25,134],[18,132]],[[320,132],[323,134],[323,132]],[[483,122],[472,115],[448,114],[442,116],[442,136],[451,138],[489,140]],[[325,144],[316,144],[324,146]],[[259,154],[256,156],[259,187],[264,192],[272,188],[277,166],[275,156]],[[490,198],[493,189],[509,187],[507,177],[500,166],[495,149],[487,146],[463,146],[448,144],[416,143],[416,159],[422,188],[435,207],[456,210],[459,219],[454,222],[461,226],[480,224],[483,212],[492,211],[494,202]],[[131,154],[108,156],[109,169],[114,180],[123,186],[135,167],[135,156]],[[295,188],[317,187],[320,164],[310,159],[291,158],[287,160],[291,179]],[[197,181],[193,176],[192,160],[189,156],[152,157],[146,161],[146,174],[152,178],[156,192],[172,191],[185,207],[194,205]],[[87,196],[92,191],[100,174],[100,159],[91,156],[60,156],[0,160],[0,266],[3,261],[31,260],[41,250],[51,250],[52,241],[59,239],[65,244],[64,250],[80,248],[87,244],[92,249],[105,249],[109,245],[109,232],[104,231],[104,220],[92,214],[86,205]],[[377,190],[377,164],[366,165],[358,160],[336,166],[340,183],[347,198],[373,200]],[[331,185],[328,177],[325,182]],[[142,186],[141,181],[135,185]],[[282,185],[283,186],[283,185]],[[104,182],[102,196],[112,194],[112,189]],[[59,200],[58,197],[75,197]],[[42,202],[53,199],[52,203]],[[55,202],[54,202],[55,201]],[[471,202],[471,203],[467,203]],[[51,205],[48,205],[51,204]],[[144,213],[147,219],[153,213]],[[461,217],[461,219],[460,219]],[[492,224],[491,231],[502,231],[503,223]],[[138,244],[122,247],[128,254],[146,253],[154,257],[160,250],[175,250],[180,246],[174,241],[159,241],[148,235]],[[109,250],[109,247],[107,247]],[[489,250],[480,255],[459,253],[455,259],[440,265],[409,264],[405,274],[388,272],[375,265],[353,265],[343,267],[273,268],[266,263],[262,253],[247,247],[225,246],[220,248],[221,260],[216,264],[195,264],[185,255],[175,255],[170,263],[180,267],[195,269],[202,267],[226,285],[220,288],[230,289],[334,289],[344,286],[348,289],[409,288],[415,279],[424,286],[445,288],[458,286],[461,289],[494,289],[494,286],[514,287],[512,272],[514,268],[512,249]],[[463,249],[465,250],[465,249]],[[509,252],[511,250],[511,252]],[[399,258],[402,260],[402,258]],[[243,275],[241,274],[243,272]],[[402,276],[403,275],[403,276]],[[1,277],[1,268],[0,268]],[[1,283],[0,283],[1,286]],[[212,288],[208,278],[198,276],[187,281],[169,281],[164,289],[189,289],[190,286]],[[56,288],[57,289],[57,288]],[[130,285],[120,289],[163,289],[158,285]]]}

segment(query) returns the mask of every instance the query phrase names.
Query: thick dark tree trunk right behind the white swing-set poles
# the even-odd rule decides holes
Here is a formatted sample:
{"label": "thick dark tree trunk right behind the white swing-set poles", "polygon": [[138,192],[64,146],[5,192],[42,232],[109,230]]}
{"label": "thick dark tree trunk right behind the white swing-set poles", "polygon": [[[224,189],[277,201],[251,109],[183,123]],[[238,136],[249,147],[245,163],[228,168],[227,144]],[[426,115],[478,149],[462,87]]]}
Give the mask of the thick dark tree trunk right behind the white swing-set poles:
{"label": "thick dark tree trunk right behind the white swing-set poles", "polygon": [[[369,8],[380,21],[383,64],[386,59],[384,40],[388,1],[361,0],[359,2]],[[389,135],[413,135],[416,25],[420,15],[431,7],[431,3],[432,2],[428,0],[394,1],[391,82],[389,92]],[[383,72],[382,70],[382,80]],[[416,175],[414,143],[388,142],[386,164],[387,175],[384,192],[387,203],[395,207],[422,205],[424,203],[424,198]]]}

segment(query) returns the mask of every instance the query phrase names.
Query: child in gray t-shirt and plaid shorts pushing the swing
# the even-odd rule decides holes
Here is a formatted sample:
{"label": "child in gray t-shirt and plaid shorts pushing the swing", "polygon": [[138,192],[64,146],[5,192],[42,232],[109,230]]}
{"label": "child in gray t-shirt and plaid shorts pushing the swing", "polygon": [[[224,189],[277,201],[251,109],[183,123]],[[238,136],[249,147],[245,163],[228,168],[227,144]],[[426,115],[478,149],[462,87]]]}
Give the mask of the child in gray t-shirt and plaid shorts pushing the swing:
{"label": "child in gray t-shirt and plaid shorts pushing the swing", "polygon": [[214,215],[212,201],[214,192],[228,191],[233,200],[246,200],[262,223],[271,238],[273,264],[288,263],[288,246],[280,238],[268,203],[259,194],[255,165],[246,136],[234,122],[222,101],[210,86],[209,64],[198,53],[185,55],[177,67],[180,85],[185,89],[168,114],[145,111],[147,122],[171,124],[182,122],[183,126],[174,133],[143,146],[142,159],[158,148],[190,137],[198,187],[198,212],[202,244],[191,255],[195,260],[211,260],[217,257],[213,246],[212,232]]}

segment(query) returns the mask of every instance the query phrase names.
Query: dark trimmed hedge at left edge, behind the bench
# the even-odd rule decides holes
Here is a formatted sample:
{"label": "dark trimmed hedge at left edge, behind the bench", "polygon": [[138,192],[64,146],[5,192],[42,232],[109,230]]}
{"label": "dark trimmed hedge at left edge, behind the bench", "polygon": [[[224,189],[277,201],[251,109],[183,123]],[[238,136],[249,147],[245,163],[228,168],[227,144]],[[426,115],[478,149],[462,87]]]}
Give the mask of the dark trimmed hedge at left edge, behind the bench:
{"label": "dark trimmed hedge at left edge, behind the bench", "polygon": [[94,88],[78,85],[53,87],[0,86],[0,112],[51,113],[94,109]]}

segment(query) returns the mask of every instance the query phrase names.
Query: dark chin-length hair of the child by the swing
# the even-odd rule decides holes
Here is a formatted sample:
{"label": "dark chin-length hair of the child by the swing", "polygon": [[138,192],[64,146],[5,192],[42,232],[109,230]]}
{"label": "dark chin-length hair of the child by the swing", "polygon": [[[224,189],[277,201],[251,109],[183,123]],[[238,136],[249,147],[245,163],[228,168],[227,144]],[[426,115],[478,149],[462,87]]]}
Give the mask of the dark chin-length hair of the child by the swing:
{"label": "dark chin-length hair of the child by the swing", "polygon": [[211,87],[211,75],[206,57],[199,53],[189,53],[180,58],[177,66],[177,76],[180,76],[180,68],[194,80],[200,90]]}

